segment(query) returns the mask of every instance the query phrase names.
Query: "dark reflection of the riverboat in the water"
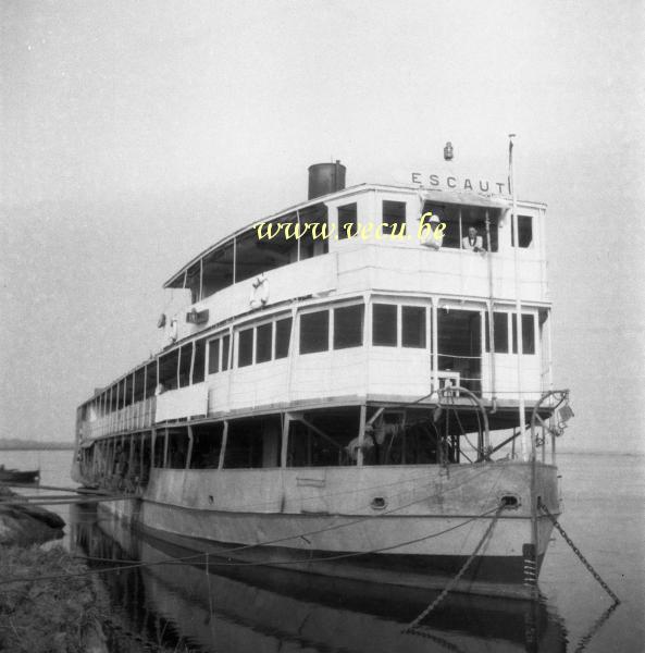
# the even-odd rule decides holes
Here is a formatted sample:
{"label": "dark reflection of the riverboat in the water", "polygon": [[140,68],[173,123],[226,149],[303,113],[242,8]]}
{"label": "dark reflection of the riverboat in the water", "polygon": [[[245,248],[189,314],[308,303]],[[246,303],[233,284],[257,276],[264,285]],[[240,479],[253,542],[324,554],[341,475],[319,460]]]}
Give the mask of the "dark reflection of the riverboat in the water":
{"label": "dark reflection of the riverboat in the water", "polygon": [[102,559],[90,559],[90,566],[111,567],[107,560],[114,558],[149,565],[102,576],[131,628],[166,645],[253,652],[284,645],[370,653],[566,651],[563,626],[543,603],[448,596],[422,627],[401,633],[434,597],[431,593],[265,567],[207,575],[203,565],[154,564],[187,552],[135,533],[125,522],[92,516],[91,509],[76,508],[73,545]]}

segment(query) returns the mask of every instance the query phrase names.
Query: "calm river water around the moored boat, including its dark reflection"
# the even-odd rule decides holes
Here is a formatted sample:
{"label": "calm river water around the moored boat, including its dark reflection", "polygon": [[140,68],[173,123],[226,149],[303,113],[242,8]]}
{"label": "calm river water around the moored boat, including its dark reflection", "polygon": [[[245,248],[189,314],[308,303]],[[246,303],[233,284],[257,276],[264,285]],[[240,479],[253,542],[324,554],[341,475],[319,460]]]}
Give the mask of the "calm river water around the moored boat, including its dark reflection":
{"label": "calm river water around the moored boat, including its dark reflection", "polygon": [[[8,452],[8,467],[40,463],[42,483],[70,485],[71,452]],[[622,604],[611,601],[558,533],[539,586],[541,602],[448,599],[414,633],[401,628],[434,597],[374,590],[255,568],[227,576],[186,565],[101,574],[126,634],[114,651],[145,650],[133,636],[171,651],[645,651],[645,458],[563,454],[561,523]],[[45,492],[45,491],[44,491]],[[181,555],[135,538],[95,508],[57,508],[63,543],[99,558],[161,562]],[[111,566],[95,560],[94,567]],[[606,617],[604,619],[604,617]]]}

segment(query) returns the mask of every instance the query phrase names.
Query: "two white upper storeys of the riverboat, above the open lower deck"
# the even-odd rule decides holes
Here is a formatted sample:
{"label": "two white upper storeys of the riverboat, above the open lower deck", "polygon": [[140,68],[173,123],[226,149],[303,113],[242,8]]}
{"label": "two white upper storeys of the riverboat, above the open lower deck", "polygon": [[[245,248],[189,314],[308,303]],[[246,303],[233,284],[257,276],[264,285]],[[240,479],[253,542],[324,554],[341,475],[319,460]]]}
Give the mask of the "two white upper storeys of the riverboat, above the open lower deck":
{"label": "two white upper storeys of the riverboat, above the open lower deck", "polygon": [[517,246],[508,197],[419,186],[363,184],[258,220],[165,283],[185,295],[160,322],[160,352],[97,391],[79,429],[405,404],[446,384],[510,409],[516,292],[535,401],[550,383],[545,209],[517,202]]}

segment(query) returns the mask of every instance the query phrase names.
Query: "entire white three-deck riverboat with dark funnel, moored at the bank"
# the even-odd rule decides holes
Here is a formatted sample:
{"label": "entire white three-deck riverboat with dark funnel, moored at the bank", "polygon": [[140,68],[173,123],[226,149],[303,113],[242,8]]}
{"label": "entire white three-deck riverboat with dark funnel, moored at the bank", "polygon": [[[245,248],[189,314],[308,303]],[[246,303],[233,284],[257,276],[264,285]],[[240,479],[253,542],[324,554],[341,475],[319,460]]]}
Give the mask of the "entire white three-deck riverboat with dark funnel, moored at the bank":
{"label": "entire white three-deck riverboat with dark funnel, moored at the bank", "polygon": [[73,477],[211,560],[530,597],[571,415],[546,207],[345,173],[166,281],[163,346],[79,406]]}

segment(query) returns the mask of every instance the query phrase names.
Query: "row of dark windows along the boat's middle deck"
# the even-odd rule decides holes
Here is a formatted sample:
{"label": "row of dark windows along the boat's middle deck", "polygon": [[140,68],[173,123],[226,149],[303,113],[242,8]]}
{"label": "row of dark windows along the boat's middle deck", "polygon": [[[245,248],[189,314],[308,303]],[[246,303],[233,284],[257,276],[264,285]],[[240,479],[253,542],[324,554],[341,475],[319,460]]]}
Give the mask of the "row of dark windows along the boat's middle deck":
{"label": "row of dark windows along the boat's middle deck", "polygon": [[[427,347],[427,307],[373,304],[372,345],[379,347]],[[362,347],[364,305],[325,308],[300,315],[298,353],[300,355]],[[513,312],[493,313],[495,352],[518,352]],[[237,367],[268,362],[289,355],[292,318],[285,317],[237,331]],[[523,354],[535,354],[535,317],[522,313]],[[476,337],[479,340],[479,336]],[[208,343],[208,346],[207,346]],[[475,346],[479,348],[479,346]],[[488,315],[485,313],[485,350],[491,352]],[[106,390],[96,404],[101,415],[129,406],[154,395],[157,384],[164,390],[201,383],[208,374],[226,371],[234,365],[231,334],[186,343],[138,368]],[[207,359],[208,356],[208,359]]]}

